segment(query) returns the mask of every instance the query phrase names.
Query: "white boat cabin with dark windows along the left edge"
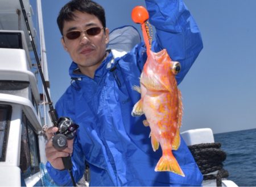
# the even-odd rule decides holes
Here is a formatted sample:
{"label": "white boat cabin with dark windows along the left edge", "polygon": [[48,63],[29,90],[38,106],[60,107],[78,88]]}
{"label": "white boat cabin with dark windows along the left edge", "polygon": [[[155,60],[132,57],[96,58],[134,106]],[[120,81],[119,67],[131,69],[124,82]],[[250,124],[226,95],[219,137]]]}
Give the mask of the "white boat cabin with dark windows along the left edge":
{"label": "white boat cabin with dark windows along the left edge", "polygon": [[[31,13],[29,1],[24,1]],[[19,1],[0,2],[0,184],[43,186],[38,82]],[[29,19],[32,26],[32,20]],[[34,27],[31,27],[34,28]]]}

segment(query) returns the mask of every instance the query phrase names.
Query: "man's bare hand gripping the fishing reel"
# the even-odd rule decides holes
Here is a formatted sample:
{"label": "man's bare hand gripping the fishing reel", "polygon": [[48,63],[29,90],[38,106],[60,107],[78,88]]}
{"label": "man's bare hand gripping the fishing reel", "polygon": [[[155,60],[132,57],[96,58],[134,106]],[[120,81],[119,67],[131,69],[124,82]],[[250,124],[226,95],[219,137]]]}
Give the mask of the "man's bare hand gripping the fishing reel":
{"label": "man's bare hand gripping the fishing reel", "polygon": [[63,151],[57,151],[52,145],[52,136],[58,131],[57,127],[49,127],[46,129],[47,143],[46,143],[46,158],[55,169],[64,169],[63,161],[61,157],[67,157],[73,152],[73,139],[68,140],[68,147]]}

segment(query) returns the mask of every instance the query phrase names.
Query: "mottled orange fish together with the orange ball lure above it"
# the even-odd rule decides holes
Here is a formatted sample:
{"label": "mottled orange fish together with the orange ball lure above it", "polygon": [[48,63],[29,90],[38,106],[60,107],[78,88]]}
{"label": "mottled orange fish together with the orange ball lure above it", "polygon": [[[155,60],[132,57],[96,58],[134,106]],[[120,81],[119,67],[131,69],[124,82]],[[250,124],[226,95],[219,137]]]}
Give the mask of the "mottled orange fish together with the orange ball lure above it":
{"label": "mottled orange fish together with the orange ball lure above it", "polygon": [[134,22],[142,24],[148,57],[140,78],[141,86],[133,88],[141,93],[141,99],[134,105],[131,114],[135,117],[145,114],[146,120],[143,123],[150,126],[152,148],[156,151],[159,144],[162,148],[163,155],[156,164],[155,171],[171,171],[184,176],[172,154],[172,149],[176,150],[180,146],[179,128],[183,107],[175,79],[180,64],[171,60],[166,49],[158,53],[151,51],[145,28],[145,19],[148,19],[148,15],[144,16],[141,10],[145,12],[146,9],[135,7],[132,18]]}

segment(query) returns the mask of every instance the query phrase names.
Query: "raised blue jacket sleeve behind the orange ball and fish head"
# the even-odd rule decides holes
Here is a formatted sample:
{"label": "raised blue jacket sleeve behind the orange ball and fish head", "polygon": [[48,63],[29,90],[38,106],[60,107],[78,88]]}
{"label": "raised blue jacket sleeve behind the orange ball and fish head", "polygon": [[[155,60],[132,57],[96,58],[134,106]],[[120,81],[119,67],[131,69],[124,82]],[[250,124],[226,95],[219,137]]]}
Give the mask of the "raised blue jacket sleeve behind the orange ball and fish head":
{"label": "raised blue jacket sleeve behind the orange ball and fish head", "polygon": [[150,23],[156,30],[156,44],[152,50],[167,49],[181,71],[176,76],[179,84],[203,48],[199,28],[182,0],[145,0]]}

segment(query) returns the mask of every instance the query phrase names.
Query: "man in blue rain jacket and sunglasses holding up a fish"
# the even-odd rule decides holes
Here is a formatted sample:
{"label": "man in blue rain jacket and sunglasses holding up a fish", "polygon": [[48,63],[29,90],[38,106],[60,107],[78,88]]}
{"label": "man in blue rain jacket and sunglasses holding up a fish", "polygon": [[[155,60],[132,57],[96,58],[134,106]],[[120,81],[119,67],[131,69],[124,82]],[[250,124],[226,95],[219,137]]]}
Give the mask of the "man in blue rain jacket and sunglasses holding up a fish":
{"label": "man in blue rain jacket and sunglasses holding up a fish", "polygon": [[[181,63],[178,83],[183,80],[201,51],[200,32],[180,1],[145,0],[150,22],[156,28],[152,51],[166,48]],[[199,186],[202,175],[184,141],[173,151],[185,177],[155,172],[162,151],[152,151],[150,129],[143,117],[131,117],[141,95],[132,89],[146,62],[146,48],[139,43],[130,52],[115,57],[106,50],[109,29],[104,9],[89,0],[73,0],[57,18],[61,43],[73,60],[69,74],[73,83],[56,103],[59,117],[79,124],[68,148],[57,151],[51,142],[57,128],[49,128],[46,145],[47,170],[56,184],[72,185],[61,157],[72,154],[73,176],[80,180],[89,164],[91,186]]]}

